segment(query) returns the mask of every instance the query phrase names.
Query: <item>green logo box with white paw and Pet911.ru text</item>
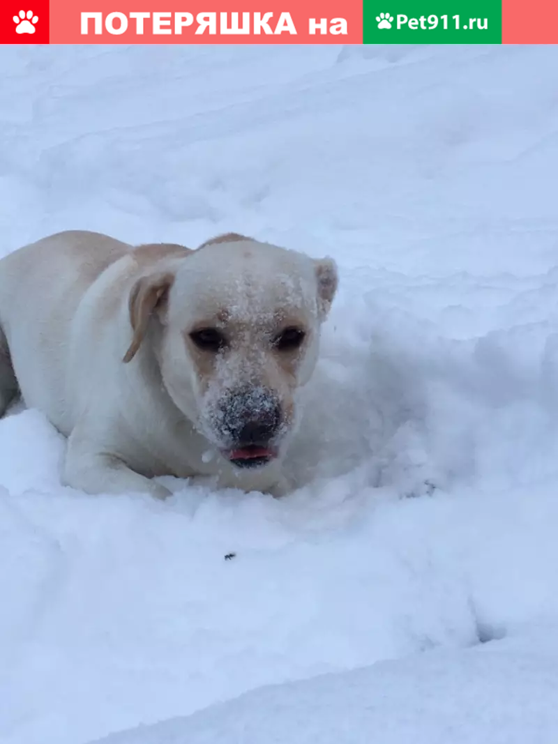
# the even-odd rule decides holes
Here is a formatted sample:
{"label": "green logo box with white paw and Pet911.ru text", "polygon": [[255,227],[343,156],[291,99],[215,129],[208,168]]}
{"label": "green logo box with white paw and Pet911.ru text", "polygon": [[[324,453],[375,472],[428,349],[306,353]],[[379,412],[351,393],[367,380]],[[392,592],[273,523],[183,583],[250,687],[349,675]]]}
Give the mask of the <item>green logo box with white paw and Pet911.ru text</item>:
{"label": "green logo box with white paw and Pet911.ru text", "polygon": [[501,0],[363,0],[365,44],[501,44]]}

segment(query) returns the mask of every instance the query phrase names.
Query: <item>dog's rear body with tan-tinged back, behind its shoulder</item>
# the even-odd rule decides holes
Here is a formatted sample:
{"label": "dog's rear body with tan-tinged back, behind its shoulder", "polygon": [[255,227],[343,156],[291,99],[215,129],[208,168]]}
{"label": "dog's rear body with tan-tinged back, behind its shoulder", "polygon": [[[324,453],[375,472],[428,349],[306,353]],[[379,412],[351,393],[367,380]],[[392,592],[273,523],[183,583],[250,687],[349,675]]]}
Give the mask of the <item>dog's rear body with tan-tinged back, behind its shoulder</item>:
{"label": "dog's rear body with tan-tinged back, behind its shoulder", "polygon": [[0,260],[0,415],[22,391],[62,425],[68,324],[89,286],[129,250],[106,235],[66,231]]}

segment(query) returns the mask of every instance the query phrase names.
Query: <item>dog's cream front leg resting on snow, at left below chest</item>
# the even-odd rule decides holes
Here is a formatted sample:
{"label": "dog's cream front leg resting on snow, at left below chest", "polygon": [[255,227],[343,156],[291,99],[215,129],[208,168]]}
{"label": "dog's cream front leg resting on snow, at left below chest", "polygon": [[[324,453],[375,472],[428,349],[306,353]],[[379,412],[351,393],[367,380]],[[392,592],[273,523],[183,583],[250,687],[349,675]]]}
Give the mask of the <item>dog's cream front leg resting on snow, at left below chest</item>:
{"label": "dog's cream front leg resting on snow, at left below chest", "polygon": [[94,443],[76,437],[68,439],[62,481],[86,493],[148,493],[154,498],[171,496],[170,490],[130,469],[116,455],[98,452]]}

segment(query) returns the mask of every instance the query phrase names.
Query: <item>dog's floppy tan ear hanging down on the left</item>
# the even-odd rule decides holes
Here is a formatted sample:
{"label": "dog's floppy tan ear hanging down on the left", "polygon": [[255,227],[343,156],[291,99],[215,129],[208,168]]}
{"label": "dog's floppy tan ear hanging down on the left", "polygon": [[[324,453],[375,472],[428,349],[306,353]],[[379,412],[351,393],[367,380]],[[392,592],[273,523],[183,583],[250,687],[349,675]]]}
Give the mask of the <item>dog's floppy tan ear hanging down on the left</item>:
{"label": "dog's floppy tan ear hanging down on the left", "polygon": [[147,326],[153,312],[161,317],[167,308],[170,287],[173,286],[174,274],[161,272],[138,279],[129,293],[129,321],[132,326],[132,343],[124,354],[123,362],[131,362],[135,357],[141,341],[147,333]]}

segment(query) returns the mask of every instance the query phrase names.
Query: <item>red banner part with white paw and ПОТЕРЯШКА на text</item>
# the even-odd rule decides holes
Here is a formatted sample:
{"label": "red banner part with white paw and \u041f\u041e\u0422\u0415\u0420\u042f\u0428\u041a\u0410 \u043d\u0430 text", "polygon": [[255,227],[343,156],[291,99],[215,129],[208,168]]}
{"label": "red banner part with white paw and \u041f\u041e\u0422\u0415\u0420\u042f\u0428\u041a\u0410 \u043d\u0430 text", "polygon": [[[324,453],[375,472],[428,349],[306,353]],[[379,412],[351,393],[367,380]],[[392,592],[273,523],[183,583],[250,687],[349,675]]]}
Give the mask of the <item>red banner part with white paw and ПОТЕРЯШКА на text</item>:
{"label": "red banner part with white paw and \u041f\u041e\u0422\u0415\u0420\u042f\u0428\u041a\u0410 \u043d\u0430 text", "polygon": [[361,0],[4,0],[4,44],[361,44]]}

